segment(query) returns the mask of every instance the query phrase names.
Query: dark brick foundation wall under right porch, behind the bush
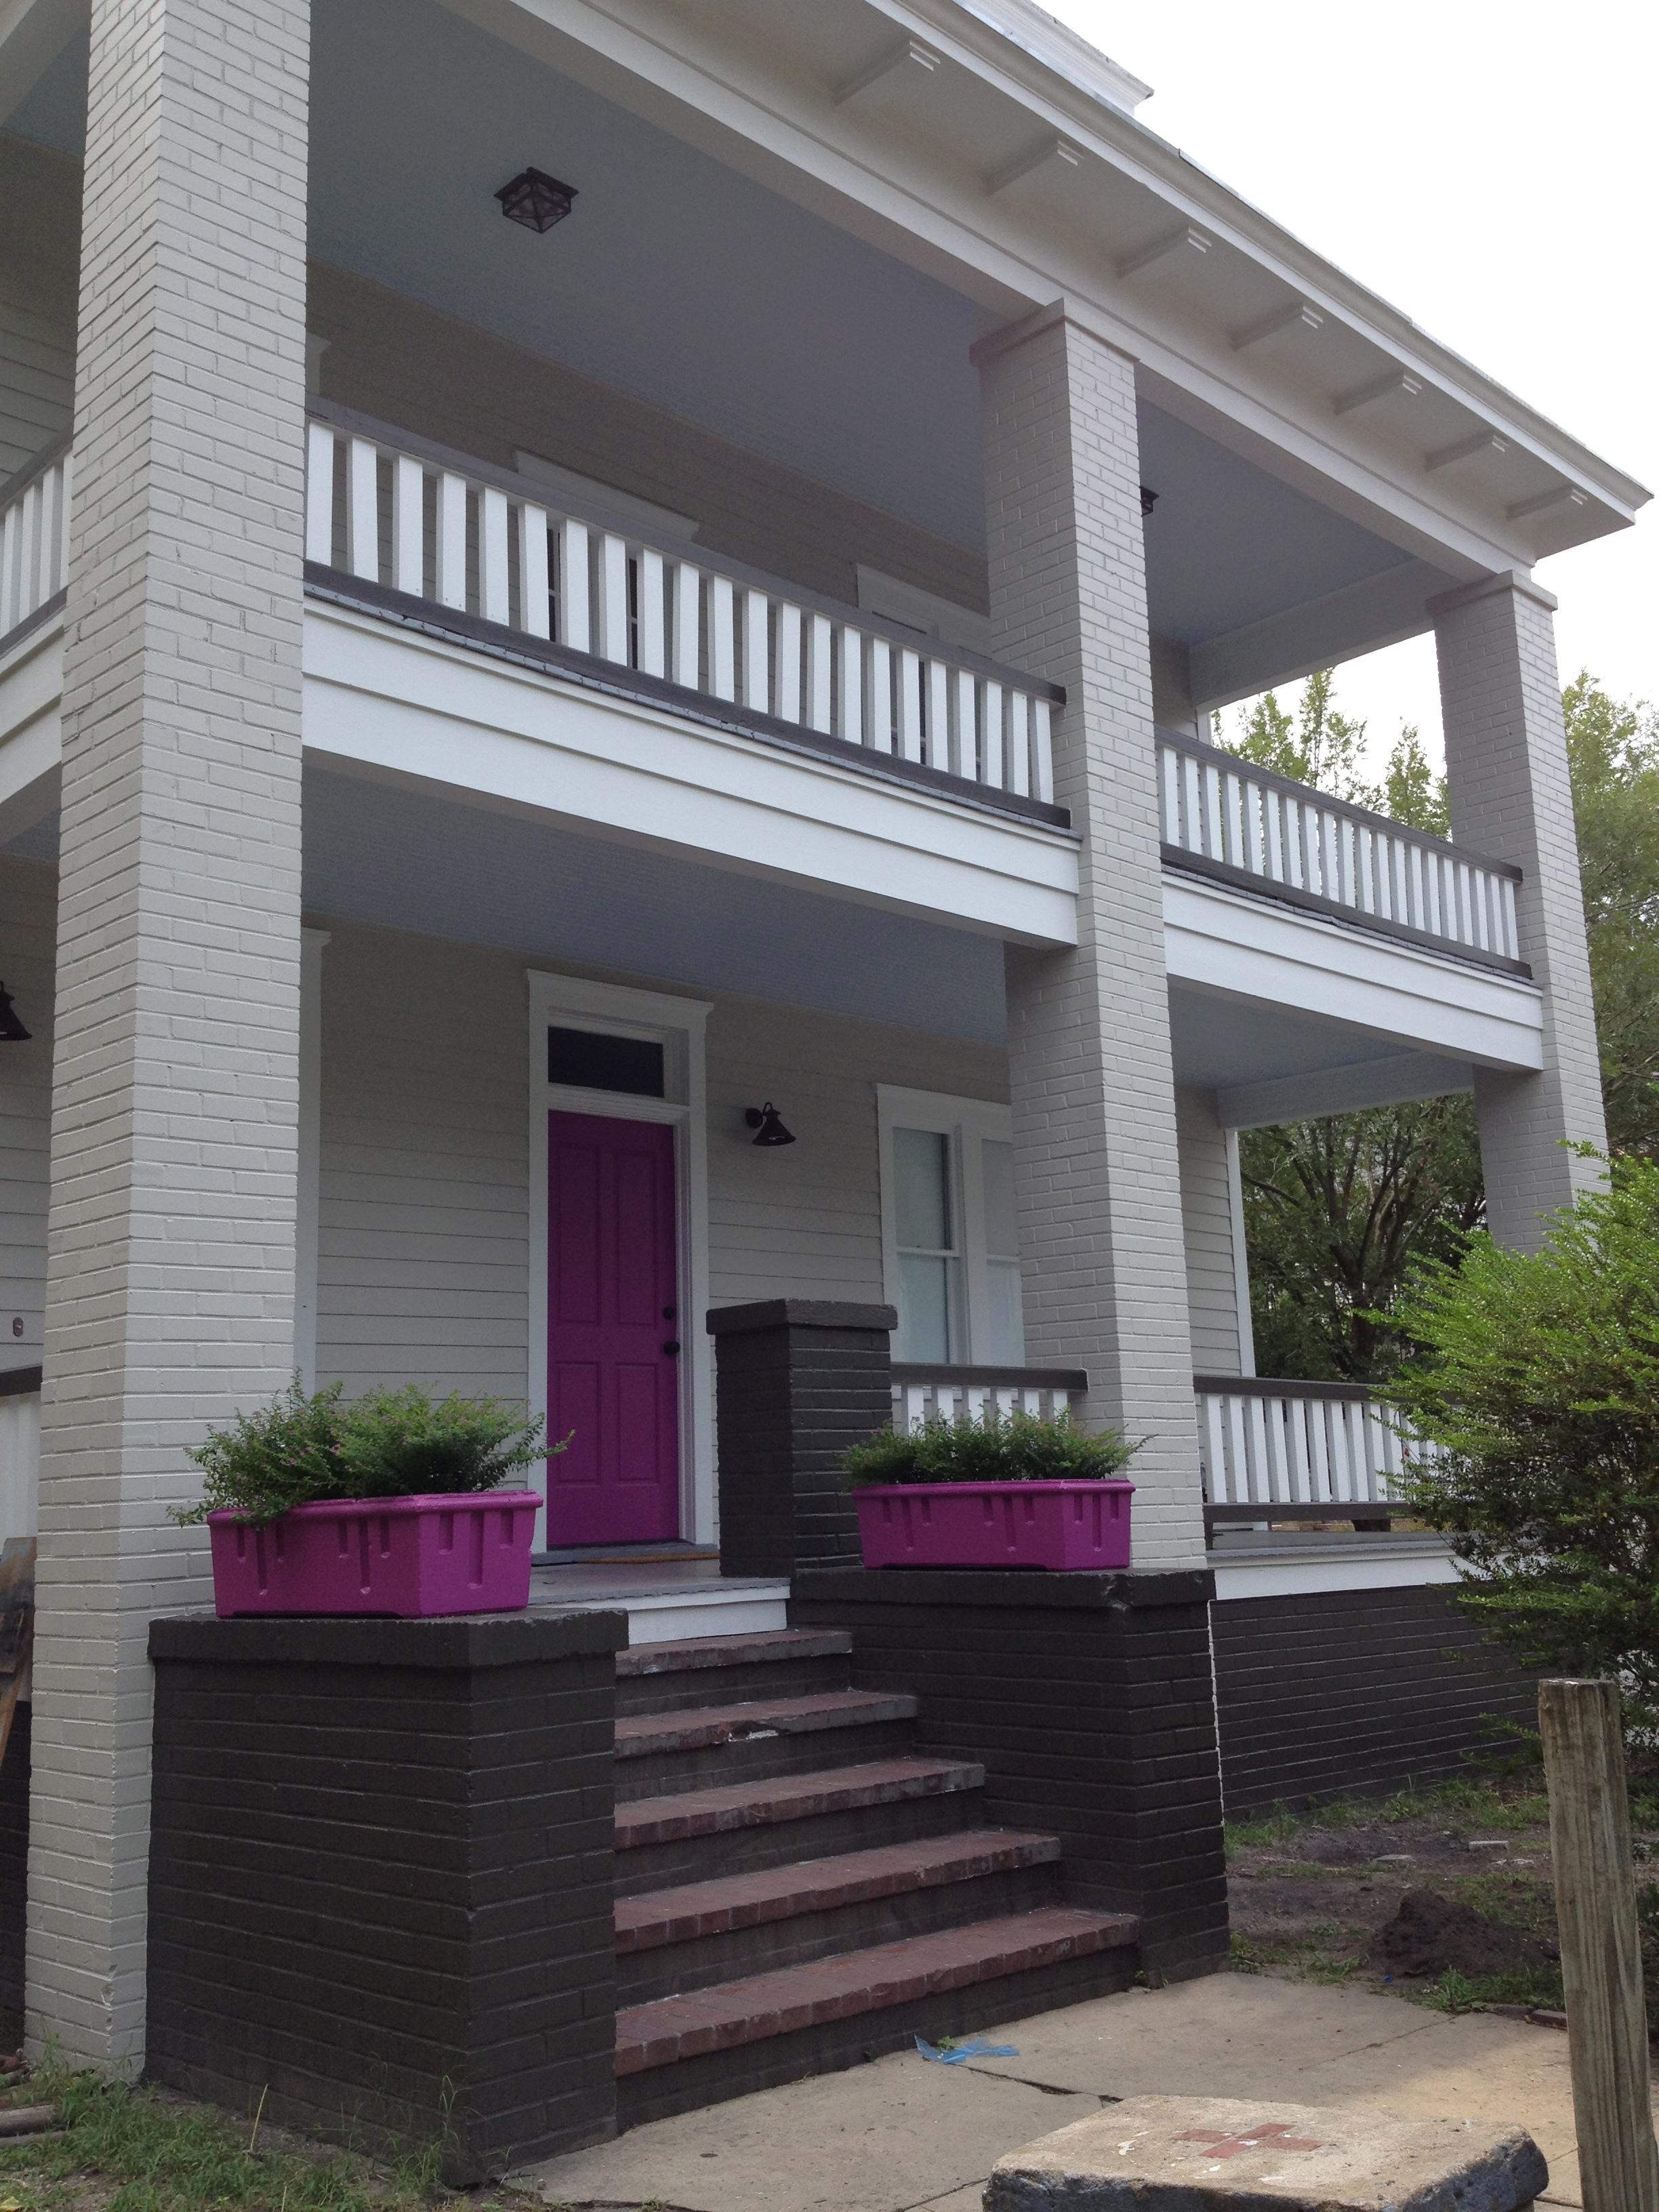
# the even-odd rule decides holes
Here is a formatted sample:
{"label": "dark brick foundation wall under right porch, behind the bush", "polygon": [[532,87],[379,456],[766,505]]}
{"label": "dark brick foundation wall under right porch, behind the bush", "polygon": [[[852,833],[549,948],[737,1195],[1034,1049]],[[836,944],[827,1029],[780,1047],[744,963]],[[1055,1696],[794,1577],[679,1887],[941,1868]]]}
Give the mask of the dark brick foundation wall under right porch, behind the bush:
{"label": "dark brick foundation wall under right porch, behind the bush", "polygon": [[1486,1714],[1537,1725],[1537,1683],[1444,1584],[1232,1597],[1212,1621],[1234,1816],[1455,1774]]}

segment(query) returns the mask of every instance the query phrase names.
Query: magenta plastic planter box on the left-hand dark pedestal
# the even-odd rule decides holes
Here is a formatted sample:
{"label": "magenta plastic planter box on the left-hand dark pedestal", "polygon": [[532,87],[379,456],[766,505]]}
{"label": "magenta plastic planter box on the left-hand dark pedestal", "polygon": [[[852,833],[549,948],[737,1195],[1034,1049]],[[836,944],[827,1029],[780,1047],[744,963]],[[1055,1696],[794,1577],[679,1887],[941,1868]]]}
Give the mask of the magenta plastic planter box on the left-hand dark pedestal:
{"label": "magenta plastic planter box on the left-hand dark pedestal", "polygon": [[212,1604],[232,1613],[522,1613],[535,1491],[330,1500],[257,1528],[210,1513]]}

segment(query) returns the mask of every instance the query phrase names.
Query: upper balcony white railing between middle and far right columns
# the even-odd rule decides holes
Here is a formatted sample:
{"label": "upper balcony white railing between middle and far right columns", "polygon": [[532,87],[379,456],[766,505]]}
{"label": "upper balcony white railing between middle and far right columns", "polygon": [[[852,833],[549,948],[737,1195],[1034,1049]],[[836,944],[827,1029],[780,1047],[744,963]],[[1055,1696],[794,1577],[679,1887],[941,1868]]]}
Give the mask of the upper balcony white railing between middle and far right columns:
{"label": "upper balcony white railing between middle and far right columns", "polygon": [[1279,885],[1325,911],[1360,916],[1515,964],[1520,869],[1407,830],[1241,761],[1219,745],[1159,732],[1166,856]]}

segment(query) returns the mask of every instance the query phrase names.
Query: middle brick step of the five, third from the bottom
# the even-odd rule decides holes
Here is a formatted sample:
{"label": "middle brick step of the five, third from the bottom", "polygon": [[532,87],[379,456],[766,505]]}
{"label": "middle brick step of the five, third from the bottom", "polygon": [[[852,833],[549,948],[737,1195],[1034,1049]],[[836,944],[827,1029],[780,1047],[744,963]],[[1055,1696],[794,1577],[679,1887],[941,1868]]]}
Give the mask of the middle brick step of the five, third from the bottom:
{"label": "middle brick step of the five, third from the bottom", "polygon": [[874,1759],[617,1805],[617,1896],[969,1825],[984,1767]]}

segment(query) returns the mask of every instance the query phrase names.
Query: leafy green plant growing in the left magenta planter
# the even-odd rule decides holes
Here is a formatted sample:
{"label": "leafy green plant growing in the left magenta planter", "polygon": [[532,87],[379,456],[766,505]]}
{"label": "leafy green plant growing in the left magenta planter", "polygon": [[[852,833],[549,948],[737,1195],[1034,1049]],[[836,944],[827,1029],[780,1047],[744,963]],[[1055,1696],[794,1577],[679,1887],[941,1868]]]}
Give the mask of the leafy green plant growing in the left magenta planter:
{"label": "leafy green plant growing in the left magenta planter", "polygon": [[175,1520],[204,1522],[228,1509],[272,1522],[292,1506],[334,1498],[493,1491],[568,1442],[549,1444],[540,1416],[526,1420],[498,1398],[451,1391],[434,1402],[411,1383],[341,1405],[338,1383],[307,1394],[294,1380],[190,1449],[206,1482],[201,1500]]}

